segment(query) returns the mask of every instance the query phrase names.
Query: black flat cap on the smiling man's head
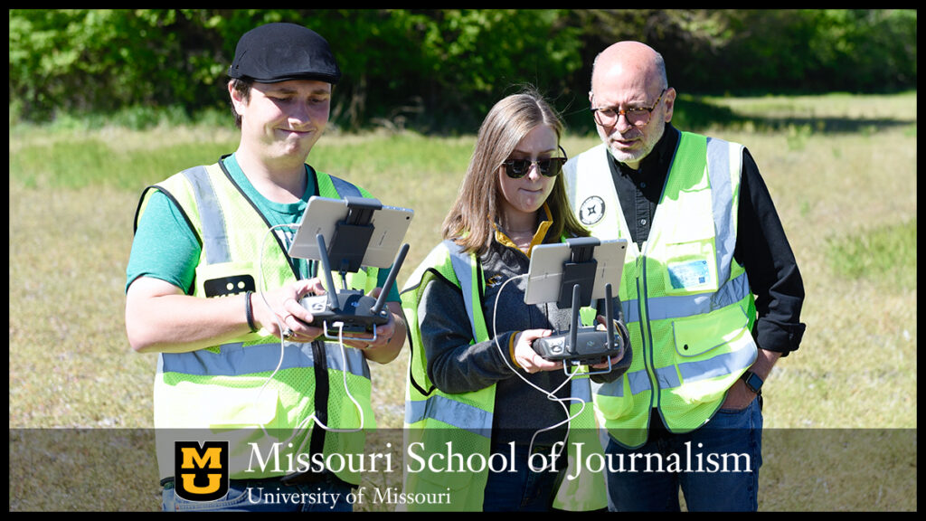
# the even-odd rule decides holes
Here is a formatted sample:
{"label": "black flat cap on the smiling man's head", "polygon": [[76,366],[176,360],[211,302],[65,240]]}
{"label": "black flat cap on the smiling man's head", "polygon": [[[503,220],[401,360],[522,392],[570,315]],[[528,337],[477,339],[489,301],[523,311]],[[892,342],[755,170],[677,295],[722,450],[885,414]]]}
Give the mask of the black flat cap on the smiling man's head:
{"label": "black flat cap on the smiling man's head", "polygon": [[338,83],[341,70],[328,41],[294,23],[274,22],[245,32],[229,67],[232,78],[259,83],[318,80]]}

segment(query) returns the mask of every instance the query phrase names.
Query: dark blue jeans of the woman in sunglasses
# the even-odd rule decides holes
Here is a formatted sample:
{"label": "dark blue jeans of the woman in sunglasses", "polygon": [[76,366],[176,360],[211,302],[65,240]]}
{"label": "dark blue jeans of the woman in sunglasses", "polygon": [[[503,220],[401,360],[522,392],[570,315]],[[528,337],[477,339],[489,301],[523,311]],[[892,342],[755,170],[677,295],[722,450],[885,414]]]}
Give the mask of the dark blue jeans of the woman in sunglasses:
{"label": "dark blue jeans of the woman in sunglasses", "polygon": [[[535,447],[549,453],[548,448]],[[510,448],[494,447],[493,453],[507,454]],[[528,464],[530,452],[524,445],[515,446],[516,472],[489,472],[485,483],[483,512],[548,512],[557,492],[557,472],[533,472]],[[510,463],[510,462],[509,462]],[[535,461],[534,464],[540,464]],[[561,472],[561,471],[560,471]]]}

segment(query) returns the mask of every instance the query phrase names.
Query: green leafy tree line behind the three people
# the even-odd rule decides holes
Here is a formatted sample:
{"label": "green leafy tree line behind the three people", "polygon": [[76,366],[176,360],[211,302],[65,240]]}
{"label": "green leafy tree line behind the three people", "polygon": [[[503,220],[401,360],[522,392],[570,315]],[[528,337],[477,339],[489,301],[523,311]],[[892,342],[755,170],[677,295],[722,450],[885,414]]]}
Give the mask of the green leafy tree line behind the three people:
{"label": "green leafy tree line behind the three people", "polygon": [[915,89],[914,9],[11,9],[10,121],[128,107],[228,108],[238,38],[270,21],[332,44],[332,120],[463,130],[530,83],[587,108],[594,56],[636,39],[701,95]]}

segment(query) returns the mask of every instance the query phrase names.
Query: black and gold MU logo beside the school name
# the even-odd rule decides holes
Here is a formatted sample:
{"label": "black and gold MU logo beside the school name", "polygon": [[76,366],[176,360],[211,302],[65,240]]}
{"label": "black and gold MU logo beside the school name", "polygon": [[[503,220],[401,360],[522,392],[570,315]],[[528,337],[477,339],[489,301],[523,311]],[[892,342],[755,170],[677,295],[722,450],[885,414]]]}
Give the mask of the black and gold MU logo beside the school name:
{"label": "black and gold MU logo beside the school name", "polygon": [[177,441],[174,492],[191,502],[211,502],[229,491],[229,442]]}

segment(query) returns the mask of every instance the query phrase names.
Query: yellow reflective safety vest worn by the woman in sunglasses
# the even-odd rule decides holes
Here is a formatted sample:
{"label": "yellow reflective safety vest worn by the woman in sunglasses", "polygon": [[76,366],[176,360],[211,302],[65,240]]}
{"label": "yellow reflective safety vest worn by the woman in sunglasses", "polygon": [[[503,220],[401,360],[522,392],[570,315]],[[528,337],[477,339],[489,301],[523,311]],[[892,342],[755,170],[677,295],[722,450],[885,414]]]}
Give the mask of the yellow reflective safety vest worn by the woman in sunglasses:
{"label": "yellow reflective safety vest worn by the woman in sunglasses", "polygon": [[[479,261],[473,254],[461,252],[452,241],[444,241],[433,248],[428,257],[409,277],[402,291],[402,307],[407,317],[407,328],[411,358],[408,365],[406,387],[405,446],[407,453],[416,452],[420,460],[435,452],[442,455],[449,447],[464,459],[472,454],[488,458],[491,451],[492,415],[495,402],[495,386],[478,391],[450,394],[435,388],[427,376],[427,360],[421,346],[418,302],[420,292],[434,276],[441,276],[460,288],[463,295],[473,342],[489,339],[485,317],[479,304],[479,295],[485,282]],[[569,405],[569,439],[567,451],[563,454],[568,464],[557,465],[566,468],[566,476],[557,490],[554,508],[569,511],[587,511],[605,508],[607,495],[603,475],[584,468],[577,460],[577,445],[582,445],[582,454],[602,453],[594,420],[591,380],[588,375],[573,376],[570,392],[573,399]],[[415,444],[415,445],[413,445]],[[485,461],[485,460],[481,460]],[[404,472],[405,492],[411,494],[445,494],[446,502],[430,504],[409,504],[408,510],[481,511],[486,493],[485,484],[488,469],[482,472],[443,472],[427,465],[418,464],[414,472]],[[577,474],[578,473],[578,474]]]}

